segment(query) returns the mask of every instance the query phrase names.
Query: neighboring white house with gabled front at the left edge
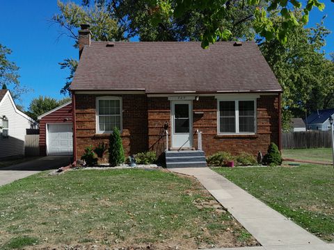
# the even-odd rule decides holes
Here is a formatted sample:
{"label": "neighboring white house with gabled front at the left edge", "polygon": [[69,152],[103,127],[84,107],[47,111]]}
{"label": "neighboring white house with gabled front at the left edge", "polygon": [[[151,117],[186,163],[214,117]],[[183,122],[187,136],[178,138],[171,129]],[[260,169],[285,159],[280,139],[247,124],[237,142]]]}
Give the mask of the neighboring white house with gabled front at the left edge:
{"label": "neighboring white house with gabled front at the left edge", "polygon": [[0,90],[0,158],[24,156],[26,129],[35,124],[17,109],[9,90]]}

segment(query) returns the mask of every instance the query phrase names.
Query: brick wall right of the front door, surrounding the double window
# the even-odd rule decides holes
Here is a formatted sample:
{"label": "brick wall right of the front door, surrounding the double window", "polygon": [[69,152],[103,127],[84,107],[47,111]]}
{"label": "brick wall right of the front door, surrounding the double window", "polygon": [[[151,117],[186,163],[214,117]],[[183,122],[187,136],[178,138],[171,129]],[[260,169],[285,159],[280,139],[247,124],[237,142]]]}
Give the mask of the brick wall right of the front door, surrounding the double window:
{"label": "brick wall right of the front door, surrounding the double window", "polygon": [[[217,101],[214,97],[200,97],[193,101],[193,111],[204,111],[202,117],[193,119],[193,129],[202,131],[202,148],[209,156],[217,151],[241,152],[257,155],[267,152],[271,142],[278,145],[278,95],[257,99],[257,132],[255,135],[217,135]],[[197,135],[194,145],[197,144]]]}

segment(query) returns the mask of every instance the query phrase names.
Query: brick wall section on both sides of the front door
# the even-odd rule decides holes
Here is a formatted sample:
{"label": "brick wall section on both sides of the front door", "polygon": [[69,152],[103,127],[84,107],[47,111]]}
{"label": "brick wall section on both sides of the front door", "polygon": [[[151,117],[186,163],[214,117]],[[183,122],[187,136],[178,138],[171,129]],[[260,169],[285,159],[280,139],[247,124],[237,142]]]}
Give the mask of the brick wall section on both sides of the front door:
{"label": "brick wall section on both sides of the front door", "polygon": [[[195,114],[196,111],[202,114]],[[168,98],[148,98],[148,144],[157,152],[166,147],[166,138],[161,136],[165,122],[170,124]],[[257,99],[256,135],[217,135],[217,100],[214,97],[200,97],[199,101],[193,101],[193,133],[197,129],[202,131],[202,149],[206,156],[217,151],[265,153],[270,142],[278,144],[278,95]],[[193,146],[197,147],[197,135],[193,136]]]}

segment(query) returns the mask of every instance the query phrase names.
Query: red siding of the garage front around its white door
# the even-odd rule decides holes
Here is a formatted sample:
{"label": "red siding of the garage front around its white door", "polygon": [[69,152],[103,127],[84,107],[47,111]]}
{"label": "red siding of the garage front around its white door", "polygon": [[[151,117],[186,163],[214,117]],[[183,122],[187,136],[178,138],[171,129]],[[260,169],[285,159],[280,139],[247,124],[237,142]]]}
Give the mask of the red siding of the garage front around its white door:
{"label": "red siding of the garage front around its white door", "polygon": [[40,156],[47,155],[46,124],[72,123],[72,103],[40,119]]}

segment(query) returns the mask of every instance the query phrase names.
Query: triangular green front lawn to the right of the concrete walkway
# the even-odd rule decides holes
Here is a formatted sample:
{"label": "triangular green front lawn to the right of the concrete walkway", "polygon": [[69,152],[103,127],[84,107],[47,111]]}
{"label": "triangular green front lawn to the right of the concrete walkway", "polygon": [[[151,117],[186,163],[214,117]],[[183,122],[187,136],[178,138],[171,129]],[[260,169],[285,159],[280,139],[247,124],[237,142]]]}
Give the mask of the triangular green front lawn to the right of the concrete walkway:
{"label": "triangular green front lawn to the right of the concrete walkway", "polygon": [[220,167],[214,170],[319,238],[334,242],[333,167]]}

